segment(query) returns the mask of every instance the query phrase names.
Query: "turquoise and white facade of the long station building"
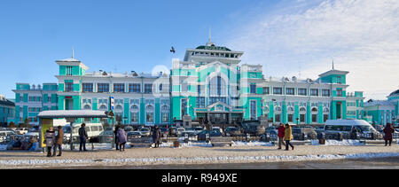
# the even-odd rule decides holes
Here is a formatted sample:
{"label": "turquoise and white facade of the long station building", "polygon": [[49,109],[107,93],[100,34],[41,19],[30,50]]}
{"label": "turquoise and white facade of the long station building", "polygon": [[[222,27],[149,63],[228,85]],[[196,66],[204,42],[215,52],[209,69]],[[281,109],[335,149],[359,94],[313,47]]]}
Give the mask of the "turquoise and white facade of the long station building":
{"label": "turquoise and white facade of the long station building", "polygon": [[[28,84],[17,83],[16,119],[23,121],[37,114],[29,113],[29,106],[24,105],[31,95],[51,100],[51,105],[43,105],[42,110],[109,111],[109,98],[114,97],[113,112],[121,124],[131,125],[170,124],[184,116],[207,119],[213,124],[257,120],[261,116],[274,123],[300,124],[372,118],[364,109],[363,92],[347,93],[346,71],[332,68],[315,80],[276,78],[262,74],[261,65],[241,64],[242,55],[242,51],[209,41],[187,49],[183,60],[174,58],[170,72],[155,75],[87,72],[89,67],[80,60],[57,60],[59,82],[51,86],[56,90],[39,94]],[[395,115],[396,97],[389,98],[395,104]]]}

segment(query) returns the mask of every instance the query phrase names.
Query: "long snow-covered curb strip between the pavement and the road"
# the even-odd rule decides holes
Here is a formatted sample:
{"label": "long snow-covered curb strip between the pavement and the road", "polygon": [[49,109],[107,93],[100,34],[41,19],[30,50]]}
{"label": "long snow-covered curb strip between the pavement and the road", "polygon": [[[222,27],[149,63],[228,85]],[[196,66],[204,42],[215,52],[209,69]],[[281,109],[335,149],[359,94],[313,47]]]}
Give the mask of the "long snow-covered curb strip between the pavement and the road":
{"label": "long snow-covered curb strip between the pavement and the road", "polygon": [[231,161],[306,161],[306,160],[343,160],[343,159],[371,159],[384,157],[399,157],[399,152],[371,152],[354,154],[325,154],[325,155],[303,155],[303,156],[239,156],[239,157],[194,157],[194,158],[137,158],[137,159],[119,159],[119,160],[0,160],[0,166],[37,166],[37,165],[60,165],[60,164],[128,164],[145,163],[166,164],[166,163],[218,163]]}

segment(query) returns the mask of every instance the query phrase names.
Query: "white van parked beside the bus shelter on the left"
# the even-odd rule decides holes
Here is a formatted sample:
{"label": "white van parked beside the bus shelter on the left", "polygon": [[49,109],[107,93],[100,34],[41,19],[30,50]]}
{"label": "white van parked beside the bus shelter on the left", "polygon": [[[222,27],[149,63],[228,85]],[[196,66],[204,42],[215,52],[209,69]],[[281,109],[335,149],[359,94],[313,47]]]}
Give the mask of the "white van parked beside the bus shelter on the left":
{"label": "white van parked beside the bus shelter on the left", "polygon": [[[79,129],[81,128],[82,123],[74,124],[73,136],[79,136]],[[70,125],[66,125],[64,128],[64,136],[71,136],[71,128]],[[94,137],[99,136],[103,131],[103,125],[101,123],[86,123],[86,132],[87,136]]]}

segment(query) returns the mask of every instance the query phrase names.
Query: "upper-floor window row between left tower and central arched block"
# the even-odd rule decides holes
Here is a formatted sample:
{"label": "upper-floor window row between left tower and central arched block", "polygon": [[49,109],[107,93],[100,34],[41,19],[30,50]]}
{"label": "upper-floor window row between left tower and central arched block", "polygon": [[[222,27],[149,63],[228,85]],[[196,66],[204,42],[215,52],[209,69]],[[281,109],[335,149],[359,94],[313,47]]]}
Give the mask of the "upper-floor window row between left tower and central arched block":
{"label": "upper-floor window row between left tower and central arched block", "polygon": [[[109,83],[98,83],[97,85],[98,85],[97,92],[99,92],[99,93],[110,92]],[[164,90],[164,88],[168,88],[168,85],[166,85],[166,87],[163,84],[160,84],[158,86],[158,90],[160,90],[160,91]],[[145,84],[144,89],[145,89],[144,93],[153,93],[153,84],[152,83]],[[67,89],[67,87],[66,87],[66,91],[72,91],[72,90]],[[82,83],[82,92],[94,92],[93,83]],[[113,83],[113,92],[124,93],[125,92],[125,84],[124,83]],[[129,83],[128,92],[129,93],[141,93],[141,84],[140,83]]]}

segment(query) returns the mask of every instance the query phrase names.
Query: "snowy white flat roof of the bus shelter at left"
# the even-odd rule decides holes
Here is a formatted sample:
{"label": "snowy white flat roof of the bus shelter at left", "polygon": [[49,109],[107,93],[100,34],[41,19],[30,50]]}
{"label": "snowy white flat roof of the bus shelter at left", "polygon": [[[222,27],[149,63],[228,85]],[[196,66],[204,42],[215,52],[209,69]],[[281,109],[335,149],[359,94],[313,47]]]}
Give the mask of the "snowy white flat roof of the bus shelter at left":
{"label": "snowy white flat roof of the bus shelter at left", "polygon": [[38,118],[107,118],[104,111],[74,110],[74,111],[43,111]]}

